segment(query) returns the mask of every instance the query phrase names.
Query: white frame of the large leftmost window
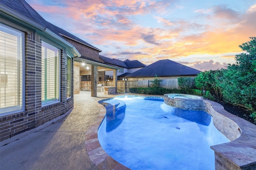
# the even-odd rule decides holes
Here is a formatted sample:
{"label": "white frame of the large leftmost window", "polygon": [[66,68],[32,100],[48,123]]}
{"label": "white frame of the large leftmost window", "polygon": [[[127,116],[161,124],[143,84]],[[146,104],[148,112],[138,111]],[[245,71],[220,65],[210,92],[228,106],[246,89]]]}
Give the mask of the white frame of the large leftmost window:
{"label": "white frame of the large leftmost window", "polygon": [[[25,82],[26,82],[26,75],[25,75],[26,74],[26,63],[25,63],[25,58],[26,57],[25,56],[26,55],[25,55],[25,33],[23,31],[15,29],[14,27],[10,27],[8,25],[5,25],[4,23],[0,23],[0,26],[1,27],[5,27],[7,29],[10,29],[12,31],[16,31],[16,32],[21,34],[21,37],[20,37],[20,39],[21,39],[21,43],[20,43],[21,53],[19,53],[19,55],[21,57],[20,62],[22,62],[22,64],[20,64],[20,66],[22,66],[22,68],[19,71],[22,71],[22,73],[21,73],[22,75],[19,76],[19,77],[21,77],[22,80],[20,80],[20,79],[17,80],[18,82],[20,82],[19,85],[17,83],[17,87],[21,86],[19,88],[19,91],[21,92],[20,98],[21,98],[21,102],[22,103],[20,105],[17,104],[16,106],[9,106],[9,107],[1,108],[1,110],[3,110],[3,111],[1,111],[2,113],[0,112],[0,116],[4,116],[4,115],[9,115],[9,114],[14,114],[14,113],[25,111],[25,104],[26,104],[26,100],[25,100],[26,99],[25,98],[25,93],[26,93],[26,91],[25,91],[26,90],[26,87],[25,87],[25,85],[26,85],[25,84]],[[5,32],[5,33],[8,33],[8,32]],[[18,98],[18,94],[17,94],[17,98]],[[14,109],[11,110],[10,108],[14,108]]]}

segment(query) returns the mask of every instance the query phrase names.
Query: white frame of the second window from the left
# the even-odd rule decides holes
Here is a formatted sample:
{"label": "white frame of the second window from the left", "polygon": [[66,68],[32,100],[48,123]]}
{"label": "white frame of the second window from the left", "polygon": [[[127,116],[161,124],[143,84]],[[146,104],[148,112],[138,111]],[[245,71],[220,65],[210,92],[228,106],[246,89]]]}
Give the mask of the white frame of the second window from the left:
{"label": "white frame of the second window from the left", "polygon": [[[54,45],[51,45],[50,43],[48,43],[48,42],[46,42],[46,41],[43,41],[42,40],[42,44],[46,44],[46,45],[48,45],[48,46],[50,46],[50,47],[52,47],[52,48],[55,48],[55,49],[58,49],[58,51],[59,51],[59,55],[58,55],[58,57],[59,57],[59,61],[58,61],[58,65],[59,65],[59,74],[58,74],[58,76],[59,76],[59,82],[58,82],[58,100],[42,100],[41,99],[41,104],[42,104],[42,107],[45,107],[45,106],[49,106],[49,105],[52,105],[52,104],[56,104],[56,103],[59,103],[60,102],[60,93],[61,93],[61,84],[60,84],[60,82],[61,82],[61,49],[60,48],[58,48],[58,47],[56,47],[56,46],[54,46]],[[42,44],[41,44],[41,46],[42,46]],[[43,46],[42,46],[43,47]],[[43,56],[42,56],[42,58],[43,58]],[[45,56],[44,56],[44,58],[45,58]],[[45,68],[44,68],[45,69]],[[42,77],[42,76],[41,76]],[[42,87],[42,84],[41,84],[41,87]],[[56,86],[54,87],[54,88],[56,88]],[[47,94],[47,92],[45,92],[46,94]]]}

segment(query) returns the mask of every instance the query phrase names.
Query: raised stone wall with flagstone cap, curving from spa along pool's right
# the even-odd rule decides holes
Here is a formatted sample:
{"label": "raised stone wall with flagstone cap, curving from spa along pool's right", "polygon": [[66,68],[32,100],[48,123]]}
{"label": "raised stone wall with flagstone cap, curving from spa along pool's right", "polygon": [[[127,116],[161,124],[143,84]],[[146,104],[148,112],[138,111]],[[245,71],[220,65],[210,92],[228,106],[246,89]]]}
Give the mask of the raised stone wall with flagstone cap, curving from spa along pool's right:
{"label": "raised stone wall with flagstone cap, curving from spa along pool's right", "polygon": [[224,110],[220,104],[204,99],[168,98],[164,103],[212,115],[214,126],[231,142],[211,146],[216,170],[256,170],[256,125]]}

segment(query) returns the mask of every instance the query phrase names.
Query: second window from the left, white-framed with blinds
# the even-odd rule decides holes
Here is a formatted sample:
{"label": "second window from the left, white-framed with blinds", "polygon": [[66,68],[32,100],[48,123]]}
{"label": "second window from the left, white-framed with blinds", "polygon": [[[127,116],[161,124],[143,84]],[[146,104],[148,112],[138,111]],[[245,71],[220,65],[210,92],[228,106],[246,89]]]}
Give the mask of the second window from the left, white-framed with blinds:
{"label": "second window from the left, white-framed with blinds", "polygon": [[60,99],[60,50],[42,41],[42,105]]}

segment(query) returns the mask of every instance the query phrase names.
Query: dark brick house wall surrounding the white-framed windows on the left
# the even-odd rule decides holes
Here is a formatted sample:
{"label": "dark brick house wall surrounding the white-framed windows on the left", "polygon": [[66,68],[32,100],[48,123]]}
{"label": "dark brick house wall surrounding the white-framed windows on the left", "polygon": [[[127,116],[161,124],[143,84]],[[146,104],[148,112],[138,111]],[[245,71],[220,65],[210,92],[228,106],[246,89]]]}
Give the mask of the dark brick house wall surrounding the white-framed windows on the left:
{"label": "dark brick house wall surrounding the white-framed windows on the left", "polygon": [[[20,27],[20,26],[16,26]],[[22,28],[21,28],[22,29]],[[56,119],[70,113],[73,108],[73,89],[70,98],[67,98],[67,56],[63,48],[60,55],[60,102],[42,107],[42,37],[34,31],[26,29],[25,33],[25,108],[24,111],[0,116],[0,142],[10,139],[23,132],[36,130],[40,125],[47,125]],[[54,44],[54,42],[47,41]],[[74,60],[72,59],[72,80],[74,80]],[[73,82],[73,81],[72,81]],[[16,136],[17,137],[17,136]],[[12,138],[13,139],[13,138]],[[4,143],[1,143],[1,145]]]}

